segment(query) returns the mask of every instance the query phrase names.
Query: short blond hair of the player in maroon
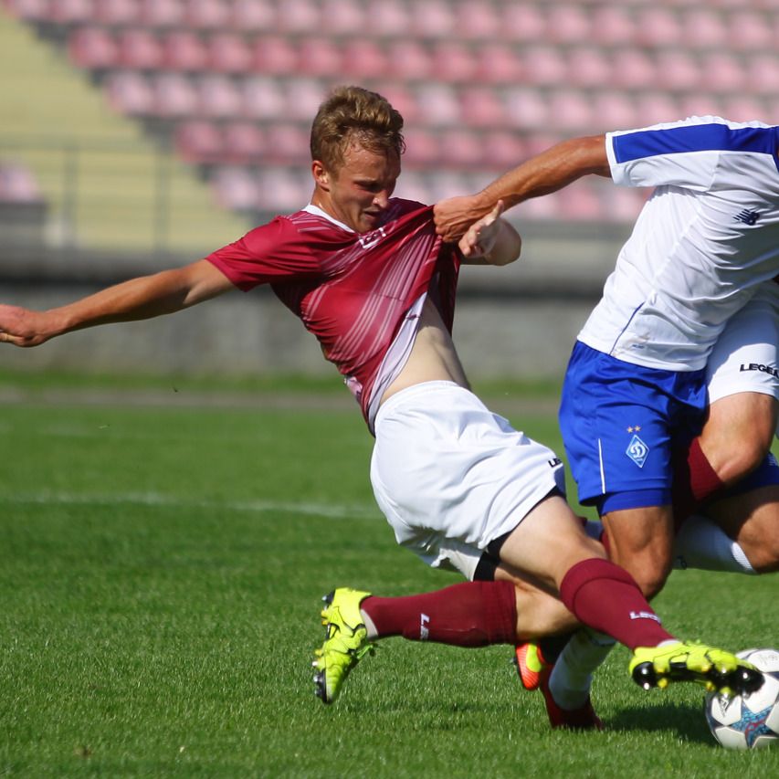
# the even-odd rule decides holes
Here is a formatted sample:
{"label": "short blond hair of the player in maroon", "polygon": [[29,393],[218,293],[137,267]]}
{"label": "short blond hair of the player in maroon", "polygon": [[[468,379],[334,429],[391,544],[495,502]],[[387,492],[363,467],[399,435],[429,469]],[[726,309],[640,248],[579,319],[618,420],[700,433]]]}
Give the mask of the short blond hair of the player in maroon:
{"label": "short blond hair of the player in maroon", "polygon": [[334,171],[353,142],[378,153],[405,152],[403,117],[389,101],[362,87],[336,87],[311,125],[311,159]]}

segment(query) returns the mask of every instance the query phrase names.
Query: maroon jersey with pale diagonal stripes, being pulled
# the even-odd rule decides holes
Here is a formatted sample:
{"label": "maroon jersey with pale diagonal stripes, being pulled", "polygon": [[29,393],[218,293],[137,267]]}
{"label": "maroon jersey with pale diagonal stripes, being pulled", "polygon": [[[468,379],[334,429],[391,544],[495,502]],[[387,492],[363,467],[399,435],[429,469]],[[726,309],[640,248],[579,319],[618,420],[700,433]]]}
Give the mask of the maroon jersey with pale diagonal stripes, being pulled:
{"label": "maroon jersey with pale diagonal stripes, being pulled", "polygon": [[437,276],[449,332],[459,258],[436,235],[432,206],[393,198],[384,223],[355,233],[324,216],[277,216],[207,258],[239,289],[268,283],[321,343],[363,409],[405,312]]}

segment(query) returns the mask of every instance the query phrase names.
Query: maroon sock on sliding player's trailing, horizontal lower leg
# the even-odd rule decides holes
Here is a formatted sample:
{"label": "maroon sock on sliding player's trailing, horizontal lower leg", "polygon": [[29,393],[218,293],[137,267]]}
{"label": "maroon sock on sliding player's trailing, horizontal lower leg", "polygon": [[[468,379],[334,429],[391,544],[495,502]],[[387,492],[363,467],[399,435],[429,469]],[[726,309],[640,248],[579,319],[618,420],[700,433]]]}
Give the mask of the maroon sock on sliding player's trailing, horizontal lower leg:
{"label": "maroon sock on sliding player's trailing, horizontal lower leg", "polygon": [[360,608],[380,637],[455,647],[514,644],[517,639],[517,602],[510,582],[464,582],[399,598],[371,596]]}

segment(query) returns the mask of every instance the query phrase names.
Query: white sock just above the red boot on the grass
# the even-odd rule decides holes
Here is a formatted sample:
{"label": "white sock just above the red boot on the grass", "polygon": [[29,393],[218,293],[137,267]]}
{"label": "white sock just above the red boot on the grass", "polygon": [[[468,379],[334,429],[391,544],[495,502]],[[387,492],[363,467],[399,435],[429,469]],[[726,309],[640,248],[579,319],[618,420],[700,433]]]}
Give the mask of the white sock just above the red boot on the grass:
{"label": "white sock just above the red boot on the grass", "polygon": [[549,677],[549,690],[561,709],[584,706],[598,668],[616,641],[589,627],[579,628],[563,647]]}

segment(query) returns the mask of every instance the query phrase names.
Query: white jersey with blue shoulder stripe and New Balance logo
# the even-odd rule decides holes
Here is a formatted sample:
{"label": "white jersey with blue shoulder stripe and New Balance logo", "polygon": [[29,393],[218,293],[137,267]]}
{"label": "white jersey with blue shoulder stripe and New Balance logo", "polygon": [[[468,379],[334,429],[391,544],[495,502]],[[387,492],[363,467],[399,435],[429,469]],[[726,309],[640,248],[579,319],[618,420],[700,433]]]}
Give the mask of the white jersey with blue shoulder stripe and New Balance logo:
{"label": "white jersey with blue shoulder stripe and New Balance logo", "polygon": [[703,368],[779,273],[779,127],[692,117],[606,134],[616,184],[654,186],[579,340],[628,363]]}

